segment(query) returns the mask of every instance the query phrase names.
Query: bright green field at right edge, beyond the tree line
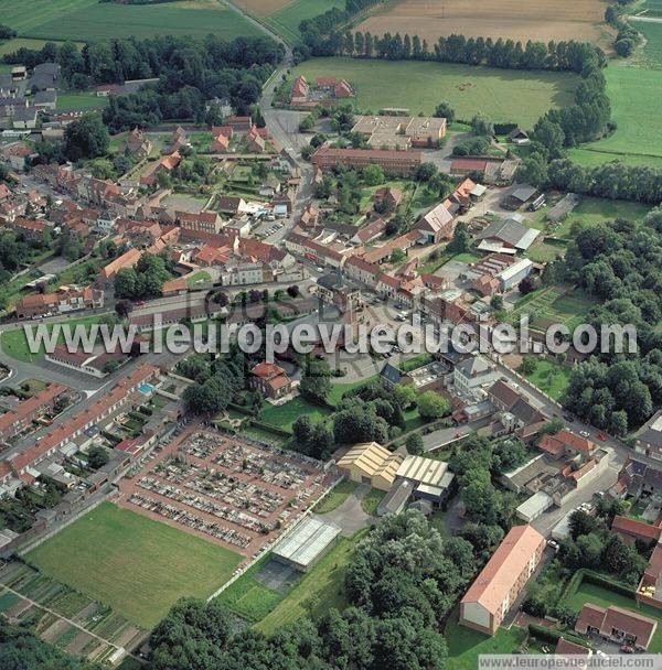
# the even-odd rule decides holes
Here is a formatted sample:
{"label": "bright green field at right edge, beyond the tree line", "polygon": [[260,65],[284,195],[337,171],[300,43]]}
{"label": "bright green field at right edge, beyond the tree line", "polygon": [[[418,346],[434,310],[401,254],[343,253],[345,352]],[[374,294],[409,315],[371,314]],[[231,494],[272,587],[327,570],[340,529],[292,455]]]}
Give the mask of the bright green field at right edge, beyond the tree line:
{"label": "bright green field at right edge, beyond the tree line", "polygon": [[662,72],[610,64],[605,77],[611,116],[618,129],[605,140],[584,144],[570,152],[570,156],[581,162],[586,153],[597,152],[604,163],[628,159],[630,163],[659,166],[662,164]]}

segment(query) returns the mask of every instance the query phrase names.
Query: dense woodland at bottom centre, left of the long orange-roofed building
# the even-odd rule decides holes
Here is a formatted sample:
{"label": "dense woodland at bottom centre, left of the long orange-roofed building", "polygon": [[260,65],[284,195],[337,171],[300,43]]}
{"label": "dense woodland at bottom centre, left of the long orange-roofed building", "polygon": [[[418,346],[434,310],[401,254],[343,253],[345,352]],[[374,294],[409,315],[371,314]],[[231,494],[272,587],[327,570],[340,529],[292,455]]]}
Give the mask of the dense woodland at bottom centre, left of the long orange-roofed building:
{"label": "dense woodland at bottom centre, left of the long orange-roofed building", "polygon": [[349,607],[303,618],[274,637],[231,631],[217,602],[184,601],[154,629],[152,670],[441,670],[440,629],[480,568],[472,544],[442,539],[420,514],[382,521],[346,574]]}

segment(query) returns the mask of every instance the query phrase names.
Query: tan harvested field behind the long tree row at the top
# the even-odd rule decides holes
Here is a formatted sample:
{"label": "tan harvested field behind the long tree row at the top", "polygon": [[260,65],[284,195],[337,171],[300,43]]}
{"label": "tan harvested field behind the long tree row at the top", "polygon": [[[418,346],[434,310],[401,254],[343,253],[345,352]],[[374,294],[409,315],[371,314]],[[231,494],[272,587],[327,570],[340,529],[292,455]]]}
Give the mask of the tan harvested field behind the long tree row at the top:
{"label": "tan harvested field behind the long tree row at the top", "polygon": [[419,35],[430,45],[442,35],[527,40],[578,40],[610,46],[600,0],[401,0],[384,6],[357,30],[373,35]]}

